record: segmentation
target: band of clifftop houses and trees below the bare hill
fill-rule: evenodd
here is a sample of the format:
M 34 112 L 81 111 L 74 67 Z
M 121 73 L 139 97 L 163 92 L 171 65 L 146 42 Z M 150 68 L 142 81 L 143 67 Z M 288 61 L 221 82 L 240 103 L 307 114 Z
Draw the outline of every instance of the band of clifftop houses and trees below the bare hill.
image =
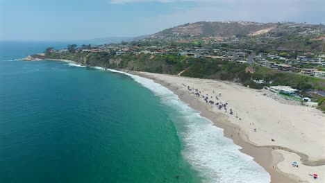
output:
M 52 53 L 64 53 L 67 49 L 53 50 Z M 83 47 L 76 49 L 76 52 L 90 53 L 114 53 L 115 55 L 127 54 L 150 54 L 150 55 L 180 55 L 188 58 L 210 58 L 241 64 L 259 64 L 262 67 L 269 67 L 281 71 L 291 71 L 306 74 L 319 78 L 325 78 L 325 55 L 301 52 L 297 58 L 292 55 L 280 56 L 273 53 L 254 53 L 250 50 L 213 49 L 211 46 L 130 46 L 123 44 L 107 44 L 91 46 L 90 49 Z

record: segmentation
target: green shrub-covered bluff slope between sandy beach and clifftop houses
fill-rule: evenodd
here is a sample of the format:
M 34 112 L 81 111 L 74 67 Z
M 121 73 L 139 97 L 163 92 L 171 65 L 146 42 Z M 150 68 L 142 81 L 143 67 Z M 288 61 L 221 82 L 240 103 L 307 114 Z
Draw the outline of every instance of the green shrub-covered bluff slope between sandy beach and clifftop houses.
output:
M 322 78 L 302 76 L 256 65 L 222 60 L 187 58 L 175 55 L 115 55 L 115 53 L 65 52 L 51 53 L 51 59 L 73 60 L 87 66 L 99 66 L 129 71 L 166 73 L 193 78 L 207 78 L 240 82 L 255 89 L 270 85 L 288 85 L 296 89 L 325 89 Z M 256 82 L 263 80 L 263 82 Z

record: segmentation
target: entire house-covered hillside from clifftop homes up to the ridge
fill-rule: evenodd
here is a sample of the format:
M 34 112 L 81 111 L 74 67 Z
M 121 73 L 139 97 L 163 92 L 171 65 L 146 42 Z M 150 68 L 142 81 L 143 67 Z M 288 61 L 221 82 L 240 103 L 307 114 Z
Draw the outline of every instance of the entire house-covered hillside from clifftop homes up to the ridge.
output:
M 325 77 L 325 26 L 250 21 L 197 22 L 119 44 L 83 45 L 76 52 L 208 58 Z M 56 53 L 68 51 L 51 50 Z

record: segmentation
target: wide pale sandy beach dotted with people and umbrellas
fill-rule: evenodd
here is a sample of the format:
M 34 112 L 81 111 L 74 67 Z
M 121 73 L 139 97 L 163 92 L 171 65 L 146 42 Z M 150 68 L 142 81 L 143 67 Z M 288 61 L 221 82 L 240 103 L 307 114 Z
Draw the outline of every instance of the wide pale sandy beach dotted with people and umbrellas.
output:
M 262 91 L 233 82 L 135 74 L 172 90 L 201 116 L 223 128 L 225 137 L 233 139 L 243 153 L 263 166 L 272 182 L 325 182 L 325 115 L 319 110 L 280 103 Z M 194 94 L 195 89 L 200 96 Z M 226 110 L 206 103 L 202 96 L 208 97 L 207 101 L 227 103 Z M 292 166 L 293 162 L 298 167 Z M 310 176 L 314 173 L 317 180 Z

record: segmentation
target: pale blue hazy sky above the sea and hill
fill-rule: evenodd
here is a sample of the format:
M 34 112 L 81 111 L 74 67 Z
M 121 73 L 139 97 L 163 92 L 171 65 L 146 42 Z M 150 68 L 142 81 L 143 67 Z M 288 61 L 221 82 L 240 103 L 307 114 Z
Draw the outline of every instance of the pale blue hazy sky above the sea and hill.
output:
M 195 21 L 325 24 L 324 0 L 0 0 L 0 40 L 88 40 Z

